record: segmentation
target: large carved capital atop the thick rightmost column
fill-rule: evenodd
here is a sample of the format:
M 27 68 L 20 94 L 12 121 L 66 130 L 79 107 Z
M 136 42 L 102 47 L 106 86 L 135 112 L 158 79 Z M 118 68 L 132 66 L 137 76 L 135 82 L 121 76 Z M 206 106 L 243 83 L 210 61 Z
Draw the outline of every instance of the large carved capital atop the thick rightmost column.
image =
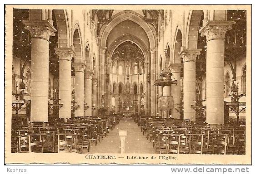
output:
M 232 29 L 234 21 L 207 21 L 199 30 L 201 36 L 206 36 L 206 42 L 212 39 L 224 39 L 228 30 Z

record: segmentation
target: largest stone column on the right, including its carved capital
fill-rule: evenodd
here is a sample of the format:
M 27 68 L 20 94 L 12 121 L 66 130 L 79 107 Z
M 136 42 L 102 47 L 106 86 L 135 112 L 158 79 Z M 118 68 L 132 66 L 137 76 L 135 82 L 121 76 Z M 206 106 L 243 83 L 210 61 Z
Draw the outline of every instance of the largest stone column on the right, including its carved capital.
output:
M 224 49 L 225 34 L 233 21 L 208 21 L 200 29 L 206 36 L 206 122 L 224 123 Z

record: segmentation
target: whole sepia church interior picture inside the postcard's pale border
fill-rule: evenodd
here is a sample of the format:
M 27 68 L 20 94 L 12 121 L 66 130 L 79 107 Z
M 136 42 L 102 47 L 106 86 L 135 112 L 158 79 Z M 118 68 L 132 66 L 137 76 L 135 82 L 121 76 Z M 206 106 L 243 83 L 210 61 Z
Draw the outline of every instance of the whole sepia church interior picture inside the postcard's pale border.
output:
M 13 8 L 11 153 L 245 155 L 246 15 Z

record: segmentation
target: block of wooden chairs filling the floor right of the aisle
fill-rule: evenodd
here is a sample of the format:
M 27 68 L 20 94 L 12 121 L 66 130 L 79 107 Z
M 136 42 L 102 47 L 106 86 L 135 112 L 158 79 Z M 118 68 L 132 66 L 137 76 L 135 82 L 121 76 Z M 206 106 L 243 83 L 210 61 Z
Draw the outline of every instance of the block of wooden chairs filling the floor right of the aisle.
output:
M 245 154 L 245 127 L 196 124 L 179 119 L 141 117 L 141 132 L 156 153 Z

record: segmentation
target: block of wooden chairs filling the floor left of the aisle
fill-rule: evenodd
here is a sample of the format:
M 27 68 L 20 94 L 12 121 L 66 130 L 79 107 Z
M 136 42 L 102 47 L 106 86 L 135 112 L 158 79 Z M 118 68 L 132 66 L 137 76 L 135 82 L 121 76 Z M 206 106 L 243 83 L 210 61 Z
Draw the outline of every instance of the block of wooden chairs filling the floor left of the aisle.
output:
M 119 122 L 119 116 L 61 119 L 53 123 L 33 123 L 17 129 L 18 152 L 88 153 Z

